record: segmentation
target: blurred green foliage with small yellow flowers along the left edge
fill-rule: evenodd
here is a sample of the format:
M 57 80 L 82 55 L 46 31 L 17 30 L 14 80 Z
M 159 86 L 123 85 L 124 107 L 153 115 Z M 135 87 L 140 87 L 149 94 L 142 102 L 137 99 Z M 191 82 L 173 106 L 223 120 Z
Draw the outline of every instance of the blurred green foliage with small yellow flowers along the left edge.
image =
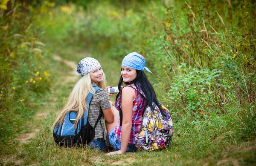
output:
M 28 131 L 27 120 L 35 111 L 32 103 L 51 88 L 45 44 L 33 27 L 33 14 L 23 12 L 19 3 L 0 17 L 0 122 L 1 143 Z

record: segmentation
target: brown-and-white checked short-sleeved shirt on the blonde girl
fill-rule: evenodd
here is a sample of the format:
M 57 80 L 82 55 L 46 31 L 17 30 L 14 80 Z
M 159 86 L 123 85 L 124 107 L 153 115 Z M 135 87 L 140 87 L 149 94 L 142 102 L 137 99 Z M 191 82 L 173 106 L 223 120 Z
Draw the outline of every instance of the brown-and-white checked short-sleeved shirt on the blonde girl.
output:
M 97 86 L 96 83 L 92 81 L 92 86 Z M 98 117 L 99 117 L 99 110 L 102 108 L 102 110 L 110 109 L 111 105 L 109 103 L 109 97 L 105 89 L 99 89 L 99 91 L 93 95 L 93 98 L 90 103 L 89 108 L 89 123 L 92 127 L 94 127 Z M 93 140 L 96 140 L 98 138 L 104 138 L 105 143 L 107 146 L 110 146 L 110 143 L 108 141 L 108 137 L 106 137 L 105 133 L 105 126 L 103 123 L 103 117 L 99 120 L 96 128 L 95 128 L 95 137 Z

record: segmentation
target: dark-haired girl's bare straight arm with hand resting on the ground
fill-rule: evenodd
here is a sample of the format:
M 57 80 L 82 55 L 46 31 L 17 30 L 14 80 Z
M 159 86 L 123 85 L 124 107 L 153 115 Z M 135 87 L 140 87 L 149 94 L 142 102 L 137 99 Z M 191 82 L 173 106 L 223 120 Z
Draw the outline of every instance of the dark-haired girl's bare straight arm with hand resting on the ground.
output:
M 107 155 L 124 154 L 126 152 L 128 141 L 131 135 L 132 126 L 132 108 L 135 97 L 134 89 L 126 86 L 122 89 L 122 130 L 121 130 L 121 150 L 108 153 Z

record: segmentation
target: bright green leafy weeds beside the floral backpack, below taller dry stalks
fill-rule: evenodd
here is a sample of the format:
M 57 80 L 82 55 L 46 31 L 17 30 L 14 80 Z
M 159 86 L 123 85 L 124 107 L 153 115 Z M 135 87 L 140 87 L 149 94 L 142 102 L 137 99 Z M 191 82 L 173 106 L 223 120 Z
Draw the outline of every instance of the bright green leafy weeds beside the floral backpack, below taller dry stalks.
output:
M 236 141 L 255 139 L 254 105 L 239 108 L 232 79 L 225 79 L 220 69 L 189 69 L 184 63 L 179 69 L 182 74 L 174 77 L 166 99 L 177 126 L 183 126 L 192 135 L 195 132 L 195 136 L 203 132 L 210 136 L 209 140 L 219 135 L 225 135 L 222 139 L 227 140 L 230 137 Z M 199 131 L 195 131 L 198 123 Z

